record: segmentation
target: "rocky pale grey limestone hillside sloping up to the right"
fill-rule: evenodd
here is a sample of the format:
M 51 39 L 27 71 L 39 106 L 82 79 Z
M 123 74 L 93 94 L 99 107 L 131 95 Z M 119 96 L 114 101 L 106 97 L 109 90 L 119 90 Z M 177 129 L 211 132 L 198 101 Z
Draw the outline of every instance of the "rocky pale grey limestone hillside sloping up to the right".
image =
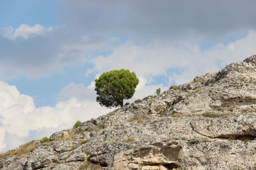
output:
M 31 141 L 0 155 L 0 168 L 256 169 L 255 137 L 253 55 L 56 132 L 50 142 Z

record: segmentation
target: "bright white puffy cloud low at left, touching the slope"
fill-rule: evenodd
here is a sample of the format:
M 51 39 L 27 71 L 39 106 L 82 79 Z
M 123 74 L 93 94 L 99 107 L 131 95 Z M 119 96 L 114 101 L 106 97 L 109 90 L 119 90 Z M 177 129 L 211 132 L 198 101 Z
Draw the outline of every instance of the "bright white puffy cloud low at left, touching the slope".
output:
M 54 107 L 36 108 L 30 96 L 20 94 L 16 87 L 3 81 L 0 81 L 0 103 L 0 152 L 15 148 L 29 139 L 68 129 L 76 120 L 90 120 L 109 111 L 95 101 L 76 97 L 58 102 Z M 12 139 L 18 140 L 12 142 Z

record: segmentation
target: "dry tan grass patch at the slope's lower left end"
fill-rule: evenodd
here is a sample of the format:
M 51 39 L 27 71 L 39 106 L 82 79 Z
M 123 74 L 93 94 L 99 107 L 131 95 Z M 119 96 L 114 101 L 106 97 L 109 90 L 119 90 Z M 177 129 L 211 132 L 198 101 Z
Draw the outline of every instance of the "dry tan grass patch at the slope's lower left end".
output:
M 29 152 L 31 152 L 31 150 L 33 150 L 33 148 L 35 148 L 39 144 L 40 144 L 39 142 L 31 141 L 29 143 L 19 146 L 19 148 L 16 148 L 15 150 L 9 150 L 6 153 L 1 153 L 0 160 L 8 159 L 11 157 L 18 157 L 18 158 L 26 157 L 28 156 Z

